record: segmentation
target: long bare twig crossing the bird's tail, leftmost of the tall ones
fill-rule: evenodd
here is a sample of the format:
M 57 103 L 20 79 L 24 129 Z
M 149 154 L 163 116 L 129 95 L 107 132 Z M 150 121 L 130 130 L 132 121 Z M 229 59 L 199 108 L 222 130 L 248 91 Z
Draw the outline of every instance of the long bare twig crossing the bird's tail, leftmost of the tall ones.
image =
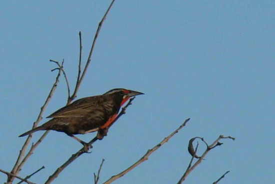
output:
M 50 99 L 51 99 L 51 97 L 52 97 L 52 95 L 53 95 L 53 93 L 54 93 L 54 91 L 55 91 L 55 89 L 57 87 L 57 83 L 59 82 L 60 73 L 61 73 L 61 70 L 58 71 L 58 74 L 57 74 L 57 76 L 55 78 L 55 82 L 53 83 L 53 85 L 52 85 L 52 87 L 51 87 L 51 89 L 49 91 L 49 94 L 48 94 L 48 96 L 47 96 L 44 104 L 40 108 L 40 112 L 38 114 L 38 117 L 37 117 L 36 121 L 33 123 L 32 129 L 36 128 L 37 125 L 38 125 L 38 123 L 41 121 L 42 114 L 44 113 L 44 110 L 46 109 L 47 104 L 49 103 L 49 101 L 50 101 Z M 10 173 L 13 173 L 14 175 L 17 175 L 18 172 L 20 171 L 22 165 L 25 162 L 25 159 L 24 159 L 24 162 L 21 161 L 21 160 L 22 160 L 22 157 L 24 156 L 25 150 L 26 150 L 26 148 L 27 148 L 27 146 L 28 146 L 28 144 L 29 144 L 29 142 L 31 140 L 31 137 L 32 137 L 32 134 L 29 134 L 28 137 L 27 137 L 27 139 L 25 140 L 22 148 L 19 151 L 19 155 L 17 157 L 17 160 L 16 160 L 16 162 L 15 162 L 12 170 L 10 171 Z M 14 177 L 12 175 L 8 176 L 7 177 L 7 183 L 11 183 L 13 181 L 13 179 L 14 179 Z

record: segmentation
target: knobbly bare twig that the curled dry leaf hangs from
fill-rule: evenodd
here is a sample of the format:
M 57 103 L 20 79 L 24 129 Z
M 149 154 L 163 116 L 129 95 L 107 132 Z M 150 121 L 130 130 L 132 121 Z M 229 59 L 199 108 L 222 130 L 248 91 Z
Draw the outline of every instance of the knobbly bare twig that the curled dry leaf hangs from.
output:
M 180 183 L 182 183 L 185 180 L 185 178 L 187 177 L 187 175 L 203 160 L 203 158 L 205 157 L 205 155 L 211 149 L 213 149 L 217 145 L 221 145 L 221 143 L 218 142 L 220 139 L 226 139 L 226 138 L 235 140 L 235 138 L 231 137 L 231 136 L 224 137 L 223 135 L 219 135 L 218 138 L 210 146 L 207 146 L 206 150 L 203 152 L 203 154 L 200 156 L 200 158 L 191 167 L 189 167 L 188 169 L 186 169 L 186 171 L 183 173 L 183 175 L 181 176 L 181 178 L 179 179 L 179 181 L 177 182 L 177 184 L 180 184 Z

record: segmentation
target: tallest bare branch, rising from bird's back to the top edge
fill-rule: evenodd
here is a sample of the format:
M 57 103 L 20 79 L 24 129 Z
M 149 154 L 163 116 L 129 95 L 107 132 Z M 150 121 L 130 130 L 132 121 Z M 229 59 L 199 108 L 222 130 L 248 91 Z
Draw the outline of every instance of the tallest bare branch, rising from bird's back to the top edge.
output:
M 89 63 L 90 63 L 90 60 L 91 60 L 92 51 L 93 51 L 93 48 L 94 48 L 94 45 L 95 45 L 97 36 L 98 36 L 98 34 L 99 34 L 99 32 L 100 32 L 101 26 L 102 26 L 104 20 L 106 19 L 106 16 L 107 16 L 107 14 L 109 13 L 109 10 L 111 9 L 112 4 L 114 3 L 114 1 L 115 1 L 115 0 L 112 0 L 112 2 L 110 3 L 110 5 L 109 5 L 107 11 L 105 12 L 103 18 L 101 19 L 101 21 L 100 21 L 99 24 L 98 24 L 98 27 L 97 27 L 96 33 L 95 33 L 94 38 L 93 38 L 93 41 L 92 41 L 91 49 L 90 49 L 89 56 L 88 56 L 86 65 L 85 65 L 85 67 L 84 67 L 83 73 L 82 73 L 82 75 L 81 75 L 81 77 L 80 77 L 78 83 L 76 84 L 75 89 L 74 89 L 74 92 L 73 92 L 73 94 L 71 95 L 70 99 L 68 100 L 68 103 L 71 102 L 71 101 L 76 97 L 76 93 L 77 93 L 77 91 L 78 91 L 78 89 L 79 89 L 79 86 L 80 86 L 80 84 L 81 84 L 81 82 L 82 82 L 82 80 L 83 80 L 83 78 L 84 78 L 84 76 L 85 76 L 85 73 L 86 73 L 87 69 L 88 69 L 88 66 L 89 66 Z

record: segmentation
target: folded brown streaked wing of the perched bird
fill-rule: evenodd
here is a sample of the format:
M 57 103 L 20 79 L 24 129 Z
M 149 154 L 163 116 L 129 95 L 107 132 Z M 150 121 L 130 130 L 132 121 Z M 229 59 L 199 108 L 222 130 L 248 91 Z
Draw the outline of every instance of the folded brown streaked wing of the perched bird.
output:
M 53 112 L 47 118 L 54 117 L 84 117 L 91 113 L 92 107 L 96 106 L 96 100 L 93 97 L 81 98 L 74 101 L 70 105 L 62 107 L 61 109 Z

